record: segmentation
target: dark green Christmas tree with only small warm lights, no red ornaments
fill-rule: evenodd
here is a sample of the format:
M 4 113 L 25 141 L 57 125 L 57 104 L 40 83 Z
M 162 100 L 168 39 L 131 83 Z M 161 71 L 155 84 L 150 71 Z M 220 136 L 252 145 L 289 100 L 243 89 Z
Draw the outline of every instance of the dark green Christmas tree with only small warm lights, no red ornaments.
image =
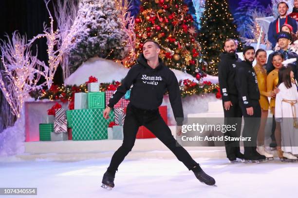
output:
M 202 46 L 204 60 L 207 61 L 207 73 L 217 75 L 219 55 L 223 52 L 223 42 L 227 38 L 238 39 L 237 27 L 229 11 L 227 0 L 206 0 L 198 36 Z M 238 49 L 242 49 L 239 43 Z

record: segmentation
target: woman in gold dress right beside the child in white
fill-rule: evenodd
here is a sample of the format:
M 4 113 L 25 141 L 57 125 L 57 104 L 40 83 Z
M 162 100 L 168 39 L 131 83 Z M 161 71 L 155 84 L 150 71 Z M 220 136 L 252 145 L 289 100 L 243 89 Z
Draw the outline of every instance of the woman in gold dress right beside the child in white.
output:
M 272 64 L 274 69 L 268 74 L 267 76 L 267 92 L 274 92 L 275 95 L 277 94 L 277 84 L 279 82 L 279 69 L 282 67 L 283 62 L 283 54 L 280 52 L 274 52 L 272 57 Z M 270 110 L 273 115 L 275 115 L 275 95 L 270 99 Z M 274 136 L 277 144 L 277 151 L 279 158 L 282 158 L 282 151 L 281 151 L 281 134 L 280 134 L 280 123 L 276 122 L 276 128 L 274 131 Z

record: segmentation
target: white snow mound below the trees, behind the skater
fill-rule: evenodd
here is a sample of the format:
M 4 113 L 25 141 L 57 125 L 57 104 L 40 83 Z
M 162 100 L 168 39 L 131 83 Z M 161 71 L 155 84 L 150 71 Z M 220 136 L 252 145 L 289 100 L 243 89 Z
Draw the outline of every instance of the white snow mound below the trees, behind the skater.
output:
M 184 73 L 177 69 L 171 69 L 176 75 L 178 81 L 189 79 L 198 82 L 197 79 L 187 73 Z M 94 76 L 98 79 L 98 82 L 112 82 L 121 81 L 127 75 L 129 68 L 116 63 L 111 60 L 103 58 L 91 58 L 87 62 L 83 63 L 72 75 L 70 75 L 65 81 L 66 85 L 80 85 L 88 81 L 89 76 Z M 211 81 L 212 83 L 218 83 L 217 76 L 209 76 L 203 78 L 203 81 Z

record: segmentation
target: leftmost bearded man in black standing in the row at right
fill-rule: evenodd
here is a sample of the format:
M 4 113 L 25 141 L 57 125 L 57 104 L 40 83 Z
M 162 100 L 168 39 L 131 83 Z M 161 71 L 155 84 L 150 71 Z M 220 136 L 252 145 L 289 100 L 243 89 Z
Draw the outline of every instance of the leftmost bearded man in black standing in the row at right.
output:
M 224 50 L 218 64 L 218 80 L 223 100 L 224 124 L 237 125 L 236 131 L 225 132 L 225 136 L 239 137 L 241 132 L 242 112 L 239 106 L 238 91 L 235 83 L 236 62 L 241 61 L 236 54 L 236 43 L 233 39 L 224 42 Z M 239 141 L 224 141 L 226 157 L 230 162 L 243 159 Z

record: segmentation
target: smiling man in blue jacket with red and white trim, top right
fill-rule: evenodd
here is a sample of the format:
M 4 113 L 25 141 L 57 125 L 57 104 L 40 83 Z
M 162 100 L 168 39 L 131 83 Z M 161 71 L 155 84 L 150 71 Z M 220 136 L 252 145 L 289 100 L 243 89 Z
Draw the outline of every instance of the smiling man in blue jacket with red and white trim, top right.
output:
M 284 1 L 280 1 L 278 6 L 278 12 L 279 12 L 279 16 L 276 20 L 272 21 L 269 24 L 269 28 L 268 28 L 268 40 L 271 43 L 272 48 L 275 47 L 278 39 L 277 39 L 277 35 L 281 30 L 281 26 L 283 24 L 289 24 L 293 27 L 293 32 L 296 33 L 297 31 L 297 22 L 294 18 L 291 18 L 291 16 L 287 15 L 289 6 L 286 2 Z

